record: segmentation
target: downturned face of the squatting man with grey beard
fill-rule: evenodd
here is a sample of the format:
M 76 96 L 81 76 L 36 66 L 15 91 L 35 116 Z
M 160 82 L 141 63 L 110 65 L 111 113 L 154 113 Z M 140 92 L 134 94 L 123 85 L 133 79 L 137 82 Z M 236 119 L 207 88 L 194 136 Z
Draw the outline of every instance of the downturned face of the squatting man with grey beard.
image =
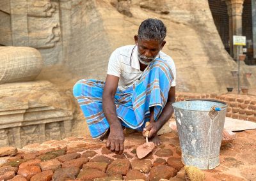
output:
M 134 36 L 136 45 L 138 46 L 138 59 L 141 64 L 148 65 L 159 54 L 164 47 L 166 41 L 157 40 L 141 40 L 138 36 Z

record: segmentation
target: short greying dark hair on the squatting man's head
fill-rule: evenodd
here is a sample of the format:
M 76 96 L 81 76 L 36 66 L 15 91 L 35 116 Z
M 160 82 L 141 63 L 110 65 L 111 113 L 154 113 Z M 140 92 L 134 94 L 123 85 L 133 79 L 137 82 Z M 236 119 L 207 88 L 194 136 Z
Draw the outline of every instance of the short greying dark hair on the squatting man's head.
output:
M 166 36 L 166 27 L 161 20 L 148 18 L 141 23 L 138 36 L 141 40 L 163 41 Z

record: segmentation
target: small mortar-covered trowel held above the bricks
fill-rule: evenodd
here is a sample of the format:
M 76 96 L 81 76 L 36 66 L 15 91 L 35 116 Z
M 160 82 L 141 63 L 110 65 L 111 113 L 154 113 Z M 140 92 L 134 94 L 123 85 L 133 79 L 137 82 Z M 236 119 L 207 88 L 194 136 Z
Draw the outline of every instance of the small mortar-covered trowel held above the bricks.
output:
M 146 122 L 146 127 L 149 125 L 149 122 Z M 146 143 L 144 143 L 143 145 L 140 145 L 139 147 L 137 147 L 136 149 L 136 154 L 138 156 L 139 159 L 147 156 L 150 152 L 152 152 L 152 150 L 155 147 L 155 144 L 153 142 L 148 142 L 148 134 L 149 131 L 145 132 L 146 134 Z

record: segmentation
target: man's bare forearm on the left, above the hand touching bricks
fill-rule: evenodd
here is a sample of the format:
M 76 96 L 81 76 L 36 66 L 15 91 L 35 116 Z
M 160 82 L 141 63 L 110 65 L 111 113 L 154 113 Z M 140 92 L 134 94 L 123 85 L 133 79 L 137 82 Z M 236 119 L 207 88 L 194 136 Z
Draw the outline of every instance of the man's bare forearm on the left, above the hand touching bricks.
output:
M 102 98 L 102 108 L 110 127 L 122 127 L 116 115 L 115 103 L 110 96 L 108 98 Z

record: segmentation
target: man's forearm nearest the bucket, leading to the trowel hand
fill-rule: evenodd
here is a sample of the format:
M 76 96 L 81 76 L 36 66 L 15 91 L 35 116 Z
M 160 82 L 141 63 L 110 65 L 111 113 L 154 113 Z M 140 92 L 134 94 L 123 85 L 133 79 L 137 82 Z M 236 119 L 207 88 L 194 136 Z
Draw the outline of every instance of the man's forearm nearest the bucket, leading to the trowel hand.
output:
M 161 115 L 159 116 L 157 122 L 157 129 L 161 129 L 161 127 L 171 118 L 173 114 L 173 102 L 167 102 L 163 108 Z

